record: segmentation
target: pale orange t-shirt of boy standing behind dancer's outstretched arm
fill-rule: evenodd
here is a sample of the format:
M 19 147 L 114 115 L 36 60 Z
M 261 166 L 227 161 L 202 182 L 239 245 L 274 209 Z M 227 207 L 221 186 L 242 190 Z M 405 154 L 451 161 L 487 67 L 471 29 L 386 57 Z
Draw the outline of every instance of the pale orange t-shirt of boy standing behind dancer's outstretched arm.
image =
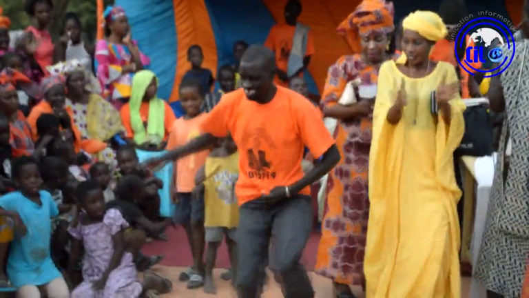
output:
M 200 136 L 200 124 L 207 118 L 207 114 L 203 113 L 192 119 L 184 119 L 180 117 L 174 121 L 171 135 L 167 140 L 167 150 L 172 150 L 178 146 L 185 145 L 191 139 Z M 198 169 L 206 163 L 209 150 L 196 152 L 192 155 L 187 155 L 178 159 L 175 162 L 176 166 L 176 190 L 178 192 L 191 192 L 195 187 L 195 176 Z

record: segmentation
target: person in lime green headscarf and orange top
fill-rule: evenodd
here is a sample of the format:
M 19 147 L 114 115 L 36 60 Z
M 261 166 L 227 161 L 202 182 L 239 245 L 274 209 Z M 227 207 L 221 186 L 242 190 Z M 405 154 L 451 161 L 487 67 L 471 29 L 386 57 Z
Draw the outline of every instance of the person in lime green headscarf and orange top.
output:
M 165 148 L 165 141 L 176 119 L 173 110 L 156 96 L 158 78 L 150 70 L 141 70 L 132 79 L 130 101 L 121 108 L 125 137 L 145 150 Z

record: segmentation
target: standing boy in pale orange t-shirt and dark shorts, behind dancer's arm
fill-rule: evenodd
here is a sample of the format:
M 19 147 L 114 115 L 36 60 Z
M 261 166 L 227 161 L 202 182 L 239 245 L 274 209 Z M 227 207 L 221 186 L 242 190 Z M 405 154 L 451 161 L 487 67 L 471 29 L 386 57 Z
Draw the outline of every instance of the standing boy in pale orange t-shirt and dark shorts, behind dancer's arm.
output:
M 184 80 L 179 88 L 180 103 L 185 111 L 185 116 L 173 124 L 167 150 L 199 137 L 200 125 L 205 121 L 207 114 L 200 112 L 204 101 L 204 92 L 200 82 Z M 191 192 L 195 187 L 195 176 L 206 162 L 209 150 L 201 150 L 176 161 L 174 201 L 176 202 L 174 221 L 185 228 L 189 247 L 193 253 L 194 266 L 180 275 L 180 281 L 187 281 L 187 288 L 199 288 L 204 285 L 203 254 L 205 246 L 204 230 L 204 197 L 193 199 Z

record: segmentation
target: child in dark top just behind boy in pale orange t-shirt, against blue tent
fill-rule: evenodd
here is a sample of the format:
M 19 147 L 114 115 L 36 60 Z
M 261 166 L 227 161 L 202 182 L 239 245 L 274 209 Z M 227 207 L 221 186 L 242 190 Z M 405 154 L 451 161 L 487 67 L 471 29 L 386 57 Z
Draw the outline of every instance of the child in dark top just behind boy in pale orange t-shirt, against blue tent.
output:
M 182 81 L 198 81 L 200 87 L 202 88 L 203 94 L 209 93 L 211 87 L 215 82 L 211 70 L 207 68 L 202 68 L 202 63 L 204 61 L 204 54 L 202 48 L 198 45 L 190 46 L 187 50 L 187 61 L 191 63 L 191 69 L 187 70 L 182 78 Z

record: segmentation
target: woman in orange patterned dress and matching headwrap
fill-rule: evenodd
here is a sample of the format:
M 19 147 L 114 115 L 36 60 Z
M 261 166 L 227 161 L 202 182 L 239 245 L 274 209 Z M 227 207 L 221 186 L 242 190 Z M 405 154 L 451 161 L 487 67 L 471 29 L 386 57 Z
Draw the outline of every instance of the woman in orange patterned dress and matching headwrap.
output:
M 333 279 L 339 298 L 354 297 L 349 286 L 364 285 L 371 117 L 378 68 L 391 58 L 393 12 L 391 2 L 364 0 L 340 24 L 338 32 L 358 54 L 340 57 L 329 68 L 322 97 L 325 117 L 338 120 L 335 138 L 342 159 L 329 174 L 315 270 Z

